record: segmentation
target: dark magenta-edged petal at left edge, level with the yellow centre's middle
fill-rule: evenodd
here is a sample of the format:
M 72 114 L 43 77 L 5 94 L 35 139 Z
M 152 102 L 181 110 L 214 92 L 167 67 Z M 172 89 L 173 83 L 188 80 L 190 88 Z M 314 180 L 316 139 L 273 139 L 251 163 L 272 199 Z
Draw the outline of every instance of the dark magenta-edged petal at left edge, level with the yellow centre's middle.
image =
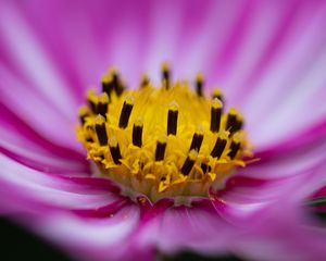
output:
M 0 109 L 2 153 L 39 171 L 88 172 L 85 156 L 45 139 L 5 107 L 1 107 L 1 102 Z

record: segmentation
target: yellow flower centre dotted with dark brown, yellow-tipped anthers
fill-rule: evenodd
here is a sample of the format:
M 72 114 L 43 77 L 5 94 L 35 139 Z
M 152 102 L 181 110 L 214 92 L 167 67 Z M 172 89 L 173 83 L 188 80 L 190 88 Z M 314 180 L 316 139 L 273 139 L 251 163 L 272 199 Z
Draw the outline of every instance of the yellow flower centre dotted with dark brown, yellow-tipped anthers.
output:
M 243 117 L 224 111 L 218 89 L 203 94 L 198 74 L 195 91 L 172 82 L 166 64 L 162 83 L 145 76 L 138 89 L 126 89 L 118 73 L 102 78 L 102 92 L 87 94 L 77 137 L 96 171 L 117 182 L 123 191 L 161 198 L 206 197 L 223 187 L 236 166 L 251 156 Z

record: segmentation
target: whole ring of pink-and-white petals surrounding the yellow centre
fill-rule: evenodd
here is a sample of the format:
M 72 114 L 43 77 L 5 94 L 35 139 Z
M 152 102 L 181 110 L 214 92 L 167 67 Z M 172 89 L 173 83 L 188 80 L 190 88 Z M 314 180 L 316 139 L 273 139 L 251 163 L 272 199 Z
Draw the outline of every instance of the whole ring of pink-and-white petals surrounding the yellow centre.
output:
M 192 249 L 321 260 L 324 231 L 300 206 L 325 185 L 325 8 L 324 1 L 3 1 L 1 214 L 78 259 Z M 156 75 L 163 60 L 178 78 L 200 70 L 206 86 L 221 86 L 226 103 L 243 113 L 261 159 L 190 207 L 122 195 L 116 183 L 92 175 L 74 133 L 86 88 L 109 64 L 136 86 L 142 71 Z

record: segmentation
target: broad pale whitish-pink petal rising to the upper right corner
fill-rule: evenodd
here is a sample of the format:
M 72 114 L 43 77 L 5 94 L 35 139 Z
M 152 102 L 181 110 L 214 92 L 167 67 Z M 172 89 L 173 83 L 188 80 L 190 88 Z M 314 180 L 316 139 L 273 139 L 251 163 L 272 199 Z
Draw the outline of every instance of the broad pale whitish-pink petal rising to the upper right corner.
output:
M 269 67 L 258 74 L 258 82 L 251 83 L 253 91 L 243 88 L 246 94 L 239 92 L 256 145 L 266 146 L 289 137 L 325 115 L 326 108 L 317 98 L 325 97 L 326 38 L 319 34 L 325 13 L 322 2 L 300 5 L 288 40 L 284 45 L 278 42 L 274 61 L 264 64 Z

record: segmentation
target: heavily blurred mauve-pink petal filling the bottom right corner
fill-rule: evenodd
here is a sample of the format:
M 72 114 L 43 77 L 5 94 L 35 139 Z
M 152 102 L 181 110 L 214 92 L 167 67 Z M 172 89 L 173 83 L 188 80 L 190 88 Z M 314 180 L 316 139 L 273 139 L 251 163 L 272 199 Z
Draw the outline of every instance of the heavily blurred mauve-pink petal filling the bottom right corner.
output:
M 287 199 L 263 212 L 249 234 L 236 238 L 233 251 L 249 260 L 323 260 L 325 229 L 309 224 Z

